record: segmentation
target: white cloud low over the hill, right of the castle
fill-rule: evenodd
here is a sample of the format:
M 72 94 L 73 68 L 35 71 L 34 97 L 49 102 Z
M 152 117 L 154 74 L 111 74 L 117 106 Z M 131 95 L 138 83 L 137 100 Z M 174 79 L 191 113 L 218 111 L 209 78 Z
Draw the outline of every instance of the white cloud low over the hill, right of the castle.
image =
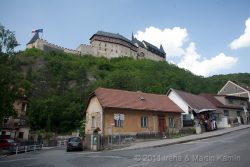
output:
M 238 62 L 238 58 L 220 53 L 210 59 L 202 58 L 196 52 L 195 43 L 191 42 L 186 48 L 184 56 L 177 65 L 197 75 L 209 76 L 219 70 L 229 69 Z

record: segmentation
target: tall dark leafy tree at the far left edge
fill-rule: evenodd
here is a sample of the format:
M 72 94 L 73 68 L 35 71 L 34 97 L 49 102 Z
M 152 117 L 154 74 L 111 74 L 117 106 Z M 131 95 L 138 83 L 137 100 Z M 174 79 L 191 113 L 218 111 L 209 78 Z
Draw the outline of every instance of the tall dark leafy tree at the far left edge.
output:
M 12 53 L 18 45 L 14 32 L 0 24 L 0 122 L 14 114 L 13 103 L 16 96 L 16 78 Z

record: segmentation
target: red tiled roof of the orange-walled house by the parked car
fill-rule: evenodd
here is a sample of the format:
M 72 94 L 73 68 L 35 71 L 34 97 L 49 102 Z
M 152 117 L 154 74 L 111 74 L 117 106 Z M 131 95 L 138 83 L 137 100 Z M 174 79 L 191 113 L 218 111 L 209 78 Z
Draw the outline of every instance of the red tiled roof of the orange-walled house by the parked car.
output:
M 166 95 L 131 92 L 107 88 L 98 88 L 94 93 L 101 103 L 102 107 L 106 108 L 176 113 L 183 112 Z

